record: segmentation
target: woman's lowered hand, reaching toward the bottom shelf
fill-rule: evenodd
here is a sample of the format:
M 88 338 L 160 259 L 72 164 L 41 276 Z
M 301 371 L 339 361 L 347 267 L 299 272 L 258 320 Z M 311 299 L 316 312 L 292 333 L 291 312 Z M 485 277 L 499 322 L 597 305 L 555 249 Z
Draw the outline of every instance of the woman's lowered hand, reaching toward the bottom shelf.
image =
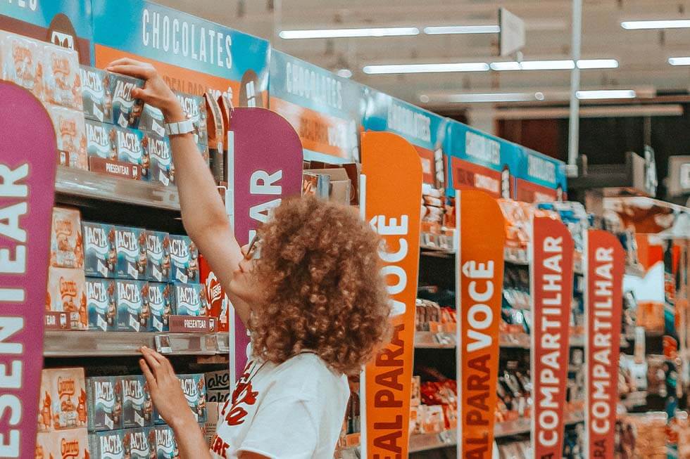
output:
M 151 401 L 161 418 L 173 429 L 186 422 L 196 422 L 170 361 L 146 346 L 139 350 L 144 356 L 139 359 L 139 366 L 149 384 Z

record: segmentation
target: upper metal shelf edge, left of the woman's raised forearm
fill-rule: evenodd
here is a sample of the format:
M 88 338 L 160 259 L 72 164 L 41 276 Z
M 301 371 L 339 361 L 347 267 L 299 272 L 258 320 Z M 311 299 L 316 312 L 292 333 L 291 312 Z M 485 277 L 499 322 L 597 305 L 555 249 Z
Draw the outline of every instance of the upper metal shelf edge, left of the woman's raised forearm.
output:
M 138 180 L 118 179 L 106 174 L 58 166 L 56 193 L 125 204 L 180 210 L 175 186 L 162 186 Z

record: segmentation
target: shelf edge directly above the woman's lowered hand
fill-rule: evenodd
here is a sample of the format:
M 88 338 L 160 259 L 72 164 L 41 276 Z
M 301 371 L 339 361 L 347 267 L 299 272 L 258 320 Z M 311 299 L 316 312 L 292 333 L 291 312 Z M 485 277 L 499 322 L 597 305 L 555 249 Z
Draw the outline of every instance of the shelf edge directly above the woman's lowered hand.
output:
M 226 335 L 227 336 L 227 335 Z M 227 341 L 226 341 L 227 342 Z M 46 330 L 43 355 L 46 357 L 110 357 L 139 355 L 139 348 L 150 347 L 177 356 L 225 354 L 221 334 L 81 332 Z

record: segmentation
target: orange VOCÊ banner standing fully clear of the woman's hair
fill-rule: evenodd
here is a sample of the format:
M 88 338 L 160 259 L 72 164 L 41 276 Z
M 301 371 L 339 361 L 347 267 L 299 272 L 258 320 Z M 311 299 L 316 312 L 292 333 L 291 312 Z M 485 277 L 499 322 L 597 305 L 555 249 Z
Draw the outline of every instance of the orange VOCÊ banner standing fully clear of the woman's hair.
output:
M 458 191 L 458 458 L 491 459 L 506 221 L 483 191 Z

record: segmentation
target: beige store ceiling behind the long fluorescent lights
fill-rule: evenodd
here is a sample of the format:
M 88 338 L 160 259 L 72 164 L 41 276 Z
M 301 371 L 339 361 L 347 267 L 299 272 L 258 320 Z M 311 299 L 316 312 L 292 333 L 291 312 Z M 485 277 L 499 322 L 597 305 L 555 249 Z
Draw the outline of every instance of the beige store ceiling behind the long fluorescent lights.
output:
M 424 27 L 496 25 L 508 8 L 527 25 L 525 60 L 570 58 L 570 0 L 158 0 L 161 4 L 270 39 L 276 49 L 330 70 L 346 68 L 353 79 L 424 105 L 422 95 L 544 93 L 545 103 L 565 100 L 567 70 L 449 72 L 366 75 L 365 65 L 399 63 L 492 63 L 498 34 L 427 35 Z M 615 59 L 619 67 L 583 70 L 585 89 L 634 89 L 640 96 L 685 92 L 690 66 L 667 63 L 690 56 L 690 28 L 624 30 L 622 20 L 689 19 L 690 0 L 584 0 L 583 59 Z M 351 27 L 418 27 L 406 37 L 282 39 L 282 30 Z M 420 99 L 421 97 L 421 99 Z M 445 104 L 445 103 L 444 103 Z M 438 108 L 438 105 L 436 105 Z

